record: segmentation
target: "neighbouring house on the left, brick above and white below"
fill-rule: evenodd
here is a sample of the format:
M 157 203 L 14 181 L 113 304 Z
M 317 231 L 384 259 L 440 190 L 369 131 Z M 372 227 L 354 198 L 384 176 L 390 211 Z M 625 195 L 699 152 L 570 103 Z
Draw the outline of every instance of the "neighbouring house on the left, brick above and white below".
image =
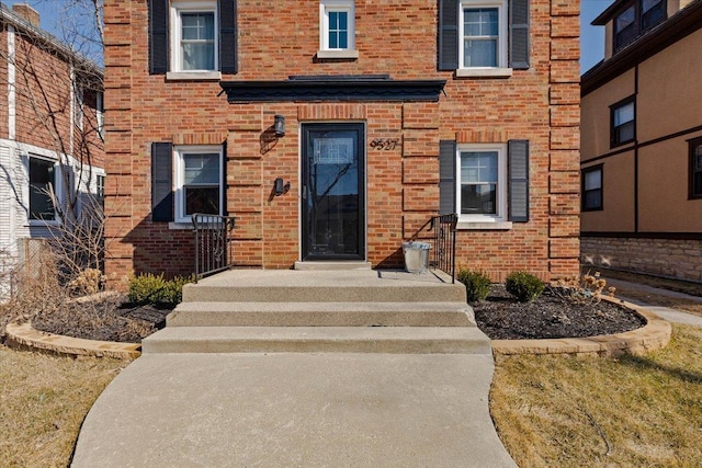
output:
M 0 4 L 0 284 L 61 209 L 104 187 L 102 69 L 39 27 L 26 4 Z M 49 191 L 60 206 L 55 206 Z M 64 212 L 66 213 L 66 212 Z M 3 294 L 5 290 L 2 290 Z

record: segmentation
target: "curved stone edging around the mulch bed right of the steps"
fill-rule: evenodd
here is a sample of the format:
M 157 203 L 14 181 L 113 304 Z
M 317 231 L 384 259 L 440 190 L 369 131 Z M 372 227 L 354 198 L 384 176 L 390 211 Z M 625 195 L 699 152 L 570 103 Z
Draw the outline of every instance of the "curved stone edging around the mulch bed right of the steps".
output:
M 642 355 L 660 350 L 670 341 L 670 323 L 644 307 L 619 299 L 603 300 L 632 309 L 646 320 L 646 324 L 624 333 L 587 338 L 557 338 L 548 340 L 492 340 L 492 353 L 510 354 L 576 354 L 615 355 L 630 353 Z

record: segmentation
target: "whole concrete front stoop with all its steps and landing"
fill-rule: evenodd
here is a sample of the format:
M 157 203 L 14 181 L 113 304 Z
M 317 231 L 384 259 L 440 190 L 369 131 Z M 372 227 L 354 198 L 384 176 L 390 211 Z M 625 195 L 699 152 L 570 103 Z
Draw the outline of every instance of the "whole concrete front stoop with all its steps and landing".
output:
M 148 353 L 491 354 L 441 273 L 229 271 L 186 285 Z

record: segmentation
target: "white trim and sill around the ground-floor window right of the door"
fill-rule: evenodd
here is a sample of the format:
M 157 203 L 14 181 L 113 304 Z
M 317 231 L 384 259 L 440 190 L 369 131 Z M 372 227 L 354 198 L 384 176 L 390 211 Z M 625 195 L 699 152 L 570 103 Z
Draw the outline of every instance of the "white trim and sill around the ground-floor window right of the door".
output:
M 461 213 L 461 153 L 497 151 L 497 214 L 466 215 Z M 507 215 L 507 144 L 461 144 L 456 146 L 456 213 L 458 229 L 510 229 Z

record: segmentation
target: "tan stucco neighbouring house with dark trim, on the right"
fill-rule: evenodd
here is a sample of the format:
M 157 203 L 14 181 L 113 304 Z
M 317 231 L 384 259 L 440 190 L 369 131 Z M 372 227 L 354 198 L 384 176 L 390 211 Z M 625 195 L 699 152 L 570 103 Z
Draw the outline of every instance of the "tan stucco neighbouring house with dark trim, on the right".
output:
M 582 76 L 587 263 L 702 282 L 702 1 L 615 1 Z

